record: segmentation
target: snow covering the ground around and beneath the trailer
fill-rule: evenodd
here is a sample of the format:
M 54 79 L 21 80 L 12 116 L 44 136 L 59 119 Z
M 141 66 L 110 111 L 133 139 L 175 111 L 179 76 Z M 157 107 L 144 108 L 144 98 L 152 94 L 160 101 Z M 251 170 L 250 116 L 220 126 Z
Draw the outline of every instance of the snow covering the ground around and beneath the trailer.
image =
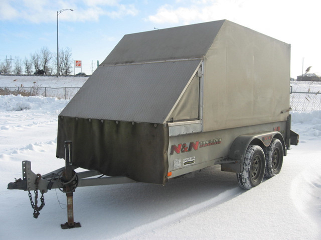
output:
M 33 79 L 17 81 L 27 85 Z M 42 85 L 60 85 L 50 79 Z M 66 79 L 64 86 L 81 86 L 78 78 Z M 0 77 L 0 85 L 12 81 Z M 216 165 L 165 186 L 78 187 L 74 214 L 80 228 L 61 229 L 67 221 L 66 196 L 52 189 L 35 219 L 28 192 L 8 190 L 7 184 L 22 177 L 23 160 L 32 162 L 35 173 L 64 166 L 55 155 L 57 116 L 67 103 L 54 97 L 0 96 L 0 239 L 321 238 L 321 110 L 291 112 L 299 145 L 287 151 L 279 174 L 250 190 L 238 186 L 235 173 Z

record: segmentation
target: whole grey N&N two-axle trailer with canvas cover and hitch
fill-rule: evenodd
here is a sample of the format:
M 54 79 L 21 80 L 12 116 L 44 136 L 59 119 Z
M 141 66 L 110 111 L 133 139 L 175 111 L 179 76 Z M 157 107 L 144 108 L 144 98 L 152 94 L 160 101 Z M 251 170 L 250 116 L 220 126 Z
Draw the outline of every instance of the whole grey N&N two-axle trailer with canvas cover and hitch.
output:
M 290 45 L 228 20 L 124 35 L 59 114 L 65 166 L 41 175 L 23 161 L 8 188 L 29 191 L 35 217 L 48 189 L 66 192 L 62 228 L 80 226 L 79 186 L 166 184 L 220 164 L 250 189 L 298 144 L 289 81 Z

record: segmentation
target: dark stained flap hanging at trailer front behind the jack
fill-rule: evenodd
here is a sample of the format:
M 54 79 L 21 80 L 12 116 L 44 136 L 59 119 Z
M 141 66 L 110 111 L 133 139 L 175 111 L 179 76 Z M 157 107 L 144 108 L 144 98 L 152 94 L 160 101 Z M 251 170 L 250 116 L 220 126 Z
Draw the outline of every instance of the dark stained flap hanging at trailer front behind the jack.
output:
M 60 116 L 57 157 L 64 157 L 65 140 L 73 142 L 75 166 L 141 182 L 167 181 L 168 125 Z

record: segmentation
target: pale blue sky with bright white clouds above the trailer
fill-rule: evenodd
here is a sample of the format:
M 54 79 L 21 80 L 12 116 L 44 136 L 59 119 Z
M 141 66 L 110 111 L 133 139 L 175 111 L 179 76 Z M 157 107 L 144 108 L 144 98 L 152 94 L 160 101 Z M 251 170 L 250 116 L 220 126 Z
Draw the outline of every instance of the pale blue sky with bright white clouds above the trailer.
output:
M 291 44 L 291 72 L 321 74 L 318 0 L 0 0 L 0 62 L 71 48 L 91 74 L 129 33 L 228 19 Z

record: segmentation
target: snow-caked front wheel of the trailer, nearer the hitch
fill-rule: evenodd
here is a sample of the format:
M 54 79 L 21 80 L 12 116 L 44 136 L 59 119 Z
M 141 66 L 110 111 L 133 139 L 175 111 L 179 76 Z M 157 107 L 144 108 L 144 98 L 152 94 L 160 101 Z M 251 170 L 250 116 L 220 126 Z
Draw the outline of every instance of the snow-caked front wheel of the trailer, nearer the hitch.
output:
M 244 161 L 243 170 L 236 173 L 239 185 L 244 189 L 251 189 L 260 184 L 265 172 L 265 155 L 263 149 L 258 145 L 249 145 Z

